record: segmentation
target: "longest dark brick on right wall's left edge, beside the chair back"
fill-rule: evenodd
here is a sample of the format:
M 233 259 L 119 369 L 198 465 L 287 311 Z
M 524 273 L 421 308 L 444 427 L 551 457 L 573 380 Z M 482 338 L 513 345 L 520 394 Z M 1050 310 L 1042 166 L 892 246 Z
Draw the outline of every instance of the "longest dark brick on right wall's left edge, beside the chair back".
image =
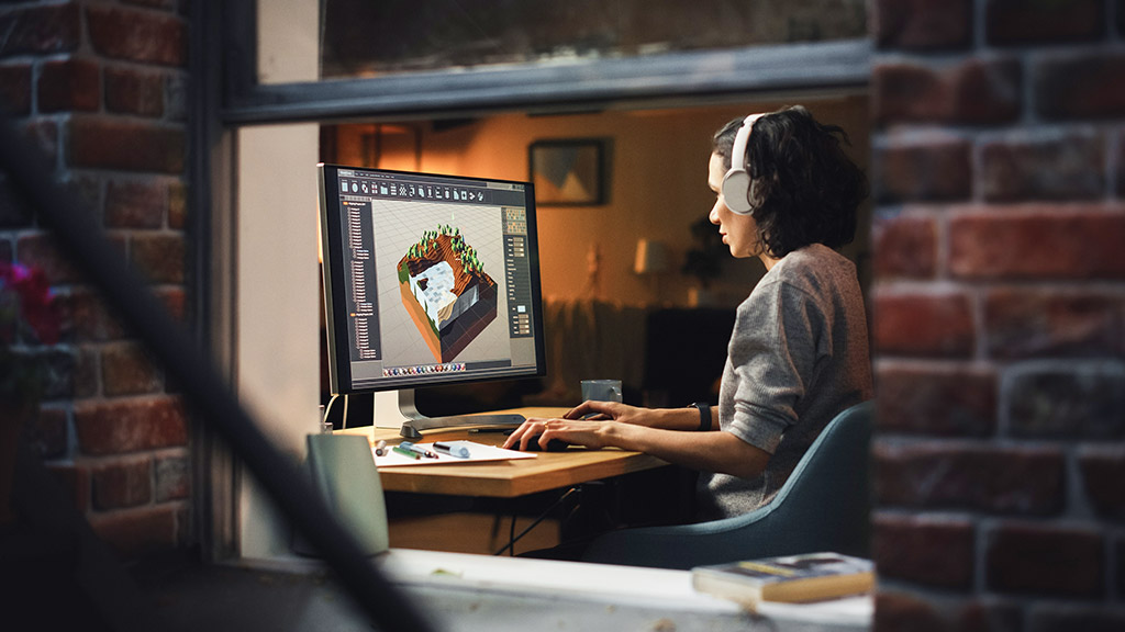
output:
M 879 506 L 1055 515 L 1065 459 L 1050 448 L 928 441 L 874 448 Z

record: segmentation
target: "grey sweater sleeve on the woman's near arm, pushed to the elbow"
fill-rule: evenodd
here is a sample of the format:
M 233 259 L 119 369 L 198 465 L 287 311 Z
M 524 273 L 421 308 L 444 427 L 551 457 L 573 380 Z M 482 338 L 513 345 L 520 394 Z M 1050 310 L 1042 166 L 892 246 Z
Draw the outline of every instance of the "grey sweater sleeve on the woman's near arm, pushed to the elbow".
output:
M 781 280 L 756 288 L 739 306 L 728 349 L 735 414 L 724 430 L 774 453 L 812 382 L 821 320 L 816 301 Z

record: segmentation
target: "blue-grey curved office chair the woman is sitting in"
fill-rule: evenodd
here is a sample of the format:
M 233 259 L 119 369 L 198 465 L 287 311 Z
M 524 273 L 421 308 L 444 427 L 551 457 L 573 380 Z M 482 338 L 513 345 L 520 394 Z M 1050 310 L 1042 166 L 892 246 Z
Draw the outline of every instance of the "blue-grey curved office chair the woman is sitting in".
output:
M 868 449 L 874 401 L 825 426 L 776 496 L 739 516 L 698 524 L 613 531 L 583 561 L 690 569 L 727 561 L 834 551 L 868 554 Z

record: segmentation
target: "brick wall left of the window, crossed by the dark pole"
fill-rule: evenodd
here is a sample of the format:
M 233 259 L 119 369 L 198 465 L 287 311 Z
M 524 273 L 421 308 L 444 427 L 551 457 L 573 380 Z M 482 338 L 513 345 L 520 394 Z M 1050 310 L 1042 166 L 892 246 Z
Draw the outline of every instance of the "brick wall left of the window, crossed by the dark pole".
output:
M 184 314 L 188 22 L 178 0 L 0 3 L 0 107 Z M 186 3 L 184 3 L 186 4 Z M 160 367 L 6 191 L 0 260 L 42 267 L 66 313 L 34 427 L 48 467 L 126 557 L 189 534 L 188 424 Z

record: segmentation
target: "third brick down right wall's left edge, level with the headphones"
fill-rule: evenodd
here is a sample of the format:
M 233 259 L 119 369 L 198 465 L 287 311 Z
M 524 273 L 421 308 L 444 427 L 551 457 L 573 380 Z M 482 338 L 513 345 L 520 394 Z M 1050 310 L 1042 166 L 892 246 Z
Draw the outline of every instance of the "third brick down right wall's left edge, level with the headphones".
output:
M 875 190 L 880 201 L 969 199 L 970 150 L 968 142 L 944 135 L 875 145 Z

